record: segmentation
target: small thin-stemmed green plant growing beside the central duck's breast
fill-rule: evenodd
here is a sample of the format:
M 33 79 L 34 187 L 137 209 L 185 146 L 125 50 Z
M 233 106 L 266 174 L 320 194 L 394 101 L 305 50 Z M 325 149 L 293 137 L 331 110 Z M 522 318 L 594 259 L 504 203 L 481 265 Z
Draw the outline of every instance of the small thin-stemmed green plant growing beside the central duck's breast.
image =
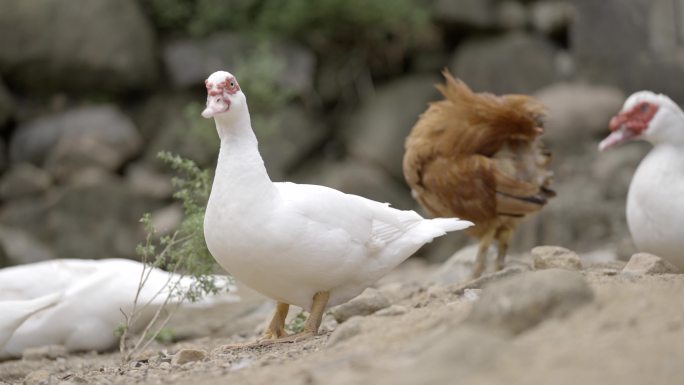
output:
M 207 170 L 202 170 L 193 161 L 160 152 L 159 158 L 167 163 L 178 176 L 172 179 L 176 188 L 174 197 L 183 205 L 184 217 L 179 228 L 170 235 L 157 239 L 149 213 L 143 215 L 146 237 L 145 242 L 138 245 L 136 252 L 143 262 L 138 289 L 133 300 L 130 313 L 121 310 L 124 323 L 118 325 L 114 334 L 119 336 L 119 350 L 123 362 L 129 361 L 137 352 L 144 350 L 154 340 L 168 340 L 172 338 L 167 322 L 183 301 L 195 302 L 205 295 L 216 294 L 222 287 L 217 283 L 217 277 L 210 275 L 215 268 L 215 262 L 204 242 L 204 209 L 211 189 L 211 176 Z M 142 292 L 151 272 L 155 268 L 165 269 L 174 274 L 160 288 L 155 296 L 165 293 L 166 297 L 151 320 L 144 325 L 142 333 L 129 341 L 133 334 L 133 327 L 150 302 L 140 303 Z M 181 280 L 192 277 L 192 283 L 181 285 Z

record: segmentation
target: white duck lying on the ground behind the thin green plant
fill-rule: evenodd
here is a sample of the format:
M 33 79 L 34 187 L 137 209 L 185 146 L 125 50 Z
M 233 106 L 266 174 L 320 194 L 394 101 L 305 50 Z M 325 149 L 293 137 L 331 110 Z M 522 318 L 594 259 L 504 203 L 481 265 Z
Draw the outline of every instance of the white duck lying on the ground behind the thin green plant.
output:
M 69 351 L 111 349 L 118 340 L 114 329 L 124 322 L 120 309 L 130 314 L 142 268 L 140 262 L 127 259 L 58 259 L 0 269 L 0 324 L 13 317 L 2 311 L 3 306 L 32 298 L 57 301 L 28 317 L 0 344 L 0 359 L 18 357 L 27 348 L 44 345 L 64 345 Z M 134 327 L 152 319 L 178 278 L 152 270 L 138 299 L 139 307 L 148 302 L 150 306 L 140 313 Z M 180 285 L 187 287 L 192 282 L 184 277 Z M 50 297 L 54 293 L 57 297 Z M 226 293 L 221 299 L 235 301 L 237 297 Z M 211 303 L 215 298 L 206 300 Z

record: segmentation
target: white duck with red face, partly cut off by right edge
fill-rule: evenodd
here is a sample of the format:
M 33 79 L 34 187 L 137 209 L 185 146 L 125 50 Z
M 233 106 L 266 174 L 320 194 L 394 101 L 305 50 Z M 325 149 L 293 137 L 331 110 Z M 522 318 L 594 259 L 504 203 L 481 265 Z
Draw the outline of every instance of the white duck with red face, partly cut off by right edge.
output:
M 610 130 L 600 150 L 636 139 L 653 145 L 627 195 L 634 244 L 684 271 L 684 112 L 665 95 L 640 91 L 611 119 Z

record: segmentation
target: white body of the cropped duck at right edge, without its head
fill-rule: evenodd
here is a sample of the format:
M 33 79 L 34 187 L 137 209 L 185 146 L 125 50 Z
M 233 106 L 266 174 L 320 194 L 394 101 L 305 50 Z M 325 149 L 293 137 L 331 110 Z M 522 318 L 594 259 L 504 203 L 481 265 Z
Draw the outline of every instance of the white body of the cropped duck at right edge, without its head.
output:
M 627 223 L 640 251 L 684 269 L 684 149 L 660 145 L 644 158 L 629 188 Z

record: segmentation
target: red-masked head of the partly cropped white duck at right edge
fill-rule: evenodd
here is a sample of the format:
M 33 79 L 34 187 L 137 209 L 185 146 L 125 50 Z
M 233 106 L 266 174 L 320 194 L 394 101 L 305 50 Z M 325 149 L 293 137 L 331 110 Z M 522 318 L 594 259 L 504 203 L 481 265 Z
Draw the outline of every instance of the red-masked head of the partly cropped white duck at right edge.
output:
M 610 120 L 611 134 L 599 150 L 631 140 L 684 144 L 684 113 L 672 99 L 651 91 L 632 94 L 620 112 Z

